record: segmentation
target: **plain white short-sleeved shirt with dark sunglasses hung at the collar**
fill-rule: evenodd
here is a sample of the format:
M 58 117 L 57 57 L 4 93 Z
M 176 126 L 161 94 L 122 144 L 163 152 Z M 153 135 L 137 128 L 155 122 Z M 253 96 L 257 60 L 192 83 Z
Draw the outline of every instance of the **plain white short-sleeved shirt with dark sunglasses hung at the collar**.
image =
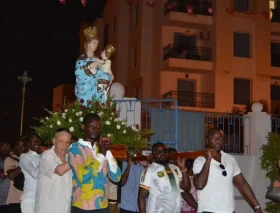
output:
M 211 160 L 207 184 L 203 190 L 197 191 L 198 212 L 234 212 L 233 177 L 240 174 L 241 171 L 232 155 L 224 152 L 221 152 L 221 154 L 221 163 L 214 159 Z M 204 157 L 198 157 L 194 161 L 194 174 L 200 173 L 205 162 Z M 220 168 L 220 164 L 225 167 L 227 176 L 223 176 L 223 169 Z

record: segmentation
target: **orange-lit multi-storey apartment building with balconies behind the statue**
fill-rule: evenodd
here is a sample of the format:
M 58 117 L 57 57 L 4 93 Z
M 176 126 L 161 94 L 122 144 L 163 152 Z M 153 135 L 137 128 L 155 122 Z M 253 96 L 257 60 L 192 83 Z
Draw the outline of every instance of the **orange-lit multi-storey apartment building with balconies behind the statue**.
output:
M 117 48 L 127 96 L 226 112 L 280 100 L 278 10 L 277 0 L 111 0 L 94 25 L 100 50 Z

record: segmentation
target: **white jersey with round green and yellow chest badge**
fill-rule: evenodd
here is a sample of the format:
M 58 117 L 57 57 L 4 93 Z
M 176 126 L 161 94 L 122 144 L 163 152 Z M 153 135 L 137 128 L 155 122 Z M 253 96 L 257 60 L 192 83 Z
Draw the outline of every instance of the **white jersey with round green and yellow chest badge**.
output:
M 181 211 L 182 172 L 177 166 L 168 165 L 174 175 L 175 184 L 172 184 L 164 166 L 160 164 L 152 163 L 142 172 L 139 186 L 149 190 L 147 213 L 179 213 Z

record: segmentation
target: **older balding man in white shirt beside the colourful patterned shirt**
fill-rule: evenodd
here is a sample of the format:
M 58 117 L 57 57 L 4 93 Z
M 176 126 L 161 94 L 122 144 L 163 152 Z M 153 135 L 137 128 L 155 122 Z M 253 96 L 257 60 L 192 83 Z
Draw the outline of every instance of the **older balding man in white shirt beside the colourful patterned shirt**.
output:
M 68 129 L 60 128 L 53 138 L 54 146 L 43 152 L 36 189 L 36 213 L 70 213 L 72 172 L 67 163 L 71 142 Z

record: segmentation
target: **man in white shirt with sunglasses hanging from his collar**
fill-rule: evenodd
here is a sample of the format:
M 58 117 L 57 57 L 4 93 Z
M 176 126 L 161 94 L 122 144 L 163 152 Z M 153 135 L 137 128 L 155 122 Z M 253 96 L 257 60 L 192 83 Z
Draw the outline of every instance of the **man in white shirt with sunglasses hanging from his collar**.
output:
M 233 213 L 235 186 L 255 213 L 262 213 L 261 207 L 248 182 L 232 155 L 222 151 L 224 134 L 213 128 L 207 133 L 206 144 L 214 149 L 212 156 L 207 150 L 205 157 L 198 157 L 193 166 L 194 185 L 198 189 L 199 213 Z

